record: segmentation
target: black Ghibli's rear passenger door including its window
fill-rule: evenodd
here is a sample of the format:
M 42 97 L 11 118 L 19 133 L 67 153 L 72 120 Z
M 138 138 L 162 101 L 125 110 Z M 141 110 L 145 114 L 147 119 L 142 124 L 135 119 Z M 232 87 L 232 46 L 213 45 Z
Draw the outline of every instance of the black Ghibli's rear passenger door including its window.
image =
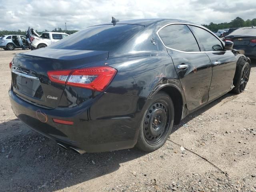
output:
M 212 79 L 212 64 L 200 52 L 196 38 L 185 24 L 170 24 L 158 30 L 182 84 L 188 110 L 206 103 Z

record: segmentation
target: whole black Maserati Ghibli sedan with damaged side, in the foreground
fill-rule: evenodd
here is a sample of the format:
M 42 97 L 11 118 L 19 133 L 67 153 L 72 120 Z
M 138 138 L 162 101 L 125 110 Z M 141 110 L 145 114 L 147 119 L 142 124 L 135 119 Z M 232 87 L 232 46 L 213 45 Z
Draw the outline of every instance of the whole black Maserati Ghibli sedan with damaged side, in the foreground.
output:
M 192 22 L 113 19 L 16 54 L 12 110 L 65 149 L 150 152 L 191 112 L 244 91 L 250 59 L 232 45 Z

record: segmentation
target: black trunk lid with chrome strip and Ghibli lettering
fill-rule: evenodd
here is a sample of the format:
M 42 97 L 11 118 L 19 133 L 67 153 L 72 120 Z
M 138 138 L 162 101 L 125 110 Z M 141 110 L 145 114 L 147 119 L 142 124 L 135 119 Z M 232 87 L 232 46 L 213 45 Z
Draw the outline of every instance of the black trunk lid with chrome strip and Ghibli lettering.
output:
M 56 108 L 65 85 L 50 82 L 47 72 L 82 68 L 106 60 L 108 51 L 42 48 L 14 57 L 12 87 L 23 100 L 44 108 Z

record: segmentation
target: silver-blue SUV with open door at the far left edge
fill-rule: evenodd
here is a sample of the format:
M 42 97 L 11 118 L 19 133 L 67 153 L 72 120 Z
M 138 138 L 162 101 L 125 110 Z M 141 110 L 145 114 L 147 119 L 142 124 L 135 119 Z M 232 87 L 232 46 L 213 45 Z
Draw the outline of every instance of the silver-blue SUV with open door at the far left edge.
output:
M 21 43 L 18 38 L 21 38 L 23 46 L 29 48 L 29 44 L 26 41 L 26 36 L 24 35 L 4 35 L 0 37 L 0 48 L 4 50 L 14 50 L 15 48 L 22 48 Z

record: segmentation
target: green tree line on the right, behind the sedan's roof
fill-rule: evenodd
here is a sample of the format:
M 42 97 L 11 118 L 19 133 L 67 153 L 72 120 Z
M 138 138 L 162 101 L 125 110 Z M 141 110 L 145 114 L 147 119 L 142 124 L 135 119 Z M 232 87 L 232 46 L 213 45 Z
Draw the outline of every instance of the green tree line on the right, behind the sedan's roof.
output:
M 213 32 L 217 32 L 219 29 L 228 29 L 228 28 L 240 28 L 240 27 L 251 27 L 256 26 L 256 18 L 250 20 L 243 20 L 240 17 L 235 18 L 231 22 L 224 22 L 224 23 L 213 23 L 211 22 L 209 25 L 202 25 L 206 28 L 210 29 Z

